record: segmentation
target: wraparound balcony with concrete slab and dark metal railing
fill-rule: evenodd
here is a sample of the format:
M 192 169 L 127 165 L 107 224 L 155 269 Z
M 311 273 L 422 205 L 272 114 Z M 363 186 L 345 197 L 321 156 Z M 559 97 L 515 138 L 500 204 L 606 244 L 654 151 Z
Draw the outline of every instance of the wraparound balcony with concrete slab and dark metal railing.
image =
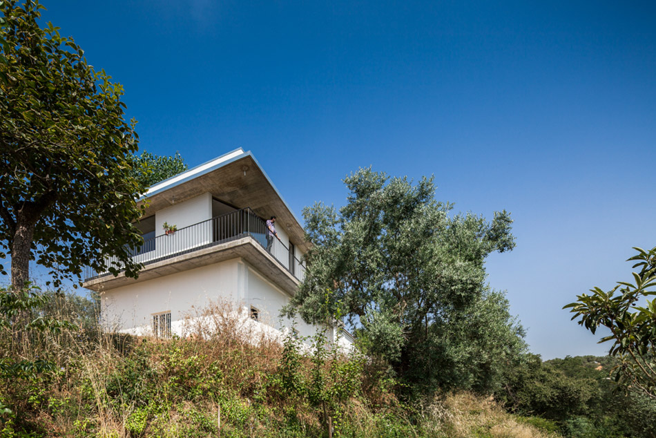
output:
M 293 278 L 293 286 L 305 278 L 305 265 L 280 240 L 274 236 L 267 238 L 266 222 L 250 208 L 146 239 L 140 247 L 132 249 L 131 257 L 144 265 L 137 280 L 148 280 L 233 257 L 254 262 L 273 276 L 280 274 L 273 271 L 281 271 L 283 277 Z M 107 264 L 119 265 L 116 258 L 109 258 Z M 84 286 L 95 290 L 119 287 L 128 281 L 122 274 L 114 277 L 109 272 L 95 272 L 90 268 L 85 270 L 84 278 Z M 287 278 L 283 280 L 286 280 L 283 283 L 289 283 Z

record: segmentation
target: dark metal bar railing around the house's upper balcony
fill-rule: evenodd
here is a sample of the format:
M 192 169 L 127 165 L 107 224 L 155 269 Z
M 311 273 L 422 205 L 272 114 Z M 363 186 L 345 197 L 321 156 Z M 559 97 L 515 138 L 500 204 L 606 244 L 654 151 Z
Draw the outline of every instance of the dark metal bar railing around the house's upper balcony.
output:
M 266 222 L 250 208 L 245 208 L 178 229 L 171 234 L 145 239 L 140 247 L 131 249 L 131 257 L 137 263 L 149 265 L 231 240 L 251 237 L 284 269 L 302 281 L 305 278 L 305 265 L 284 243 L 268 234 Z M 108 258 L 106 265 L 117 267 L 118 259 Z M 107 271 L 95 272 L 90 267 L 84 270 L 85 281 L 106 275 L 109 275 Z

